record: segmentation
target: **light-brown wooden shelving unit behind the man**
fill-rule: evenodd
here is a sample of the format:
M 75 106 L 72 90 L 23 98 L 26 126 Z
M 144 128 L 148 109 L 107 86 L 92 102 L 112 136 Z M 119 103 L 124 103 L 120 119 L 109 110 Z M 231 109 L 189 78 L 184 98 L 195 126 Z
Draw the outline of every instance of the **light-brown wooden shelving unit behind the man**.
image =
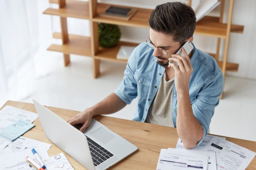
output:
M 195 29 L 195 34 L 216 37 L 218 39 L 216 54 L 211 55 L 217 60 L 224 76 L 226 71 L 238 71 L 239 67 L 236 63 L 227 62 L 230 32 L 243 33 L 244 30 L 244 26 L 234 25 L 231 23 L 234 0 L 229 1 L 230 6 L 227 23 L 222 23 L 224 0 L 221 0 L 220 17 L 206 16 L 198 21 Z M 97 0 L 89 0 L 89 2 L 77 0 L 49 0 L 49 2 L 58 4 L 59 8 L 47 8 L 44 11 L 44 14 L 57 15 L 60 17 L 61 33 L 54 33 L 53 38 L 62 39 L 63 44 L 52 44 L 49 46 L 48 50 L 62 52 L 64 55 L 65 66 L 70 63 L 70 54 L 92 57 L 94 78 L 97 78 L 100 74 L 100 60 L 126 63 L 127 60 L 116 59 L 116 54 L 119 51 L 120 45 L 138 45 L 137 43 L 131 42 L 119 42 L 119 44 L 113 48 L 99 48 L 98 23 L 149 28 L 148 18 L 152 11 L 151 9 L 136 8 L 136 14 L 134 14 L 131 20 L 126 21 L 98 16 L 98 13 L 101 12 L 108 4 L 98 3 Z M 191 4 L 191 0 L 188 0 L 188 4 Z M 68 34 L 67 17 L 89 20 L 91 37 Z M 221 38 L 226 40 L 223 61 L 219 61 L 218 59 Z

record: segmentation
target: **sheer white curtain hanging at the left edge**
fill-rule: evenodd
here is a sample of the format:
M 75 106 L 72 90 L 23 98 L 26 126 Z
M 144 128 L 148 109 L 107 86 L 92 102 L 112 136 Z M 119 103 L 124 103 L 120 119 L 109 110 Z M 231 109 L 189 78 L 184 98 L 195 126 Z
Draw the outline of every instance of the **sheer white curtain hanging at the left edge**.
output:
M 38 1 L 0 0 L 0 102 L 32 94 L 37 49 Z

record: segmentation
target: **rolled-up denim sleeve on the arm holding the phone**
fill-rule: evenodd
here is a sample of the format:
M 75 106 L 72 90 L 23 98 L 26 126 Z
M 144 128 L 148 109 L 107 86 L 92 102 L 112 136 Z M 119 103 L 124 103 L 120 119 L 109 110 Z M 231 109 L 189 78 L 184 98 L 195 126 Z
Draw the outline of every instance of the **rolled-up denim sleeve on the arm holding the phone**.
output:
M 196 101 L 192 104 L 194 116 L 204 130 L 204 136 L 197 143 L 197 146 L 201 144 L 207 135 L 214 109 L 219 104 L 219 97 L 223 90 L 223 81 L 223 74 L 221 71 L 218 71 L 212 79 L 209 79 L 206 88 L 198 94 Z

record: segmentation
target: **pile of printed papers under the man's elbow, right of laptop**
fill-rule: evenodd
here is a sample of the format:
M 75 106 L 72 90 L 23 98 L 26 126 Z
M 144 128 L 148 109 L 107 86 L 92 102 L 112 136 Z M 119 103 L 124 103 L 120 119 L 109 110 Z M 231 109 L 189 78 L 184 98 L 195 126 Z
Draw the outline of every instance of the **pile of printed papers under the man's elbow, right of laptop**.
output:
M 176 148 L 162 149 L 157 170 L 245 170 L 256 153 L 223 137 L 207 135 L 204 141 L 186 150 L 178 139 Z M 207 164 L 204 162 L 207 159 Z

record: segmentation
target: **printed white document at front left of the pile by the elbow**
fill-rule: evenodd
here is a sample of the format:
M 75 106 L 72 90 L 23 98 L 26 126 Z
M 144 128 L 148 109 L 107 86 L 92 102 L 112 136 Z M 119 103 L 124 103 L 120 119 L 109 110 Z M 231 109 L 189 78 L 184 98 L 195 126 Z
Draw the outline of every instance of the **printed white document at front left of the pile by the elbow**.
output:
M 157 170 L 207 170 L 208 155 L 185 149 L 161 149 Z

